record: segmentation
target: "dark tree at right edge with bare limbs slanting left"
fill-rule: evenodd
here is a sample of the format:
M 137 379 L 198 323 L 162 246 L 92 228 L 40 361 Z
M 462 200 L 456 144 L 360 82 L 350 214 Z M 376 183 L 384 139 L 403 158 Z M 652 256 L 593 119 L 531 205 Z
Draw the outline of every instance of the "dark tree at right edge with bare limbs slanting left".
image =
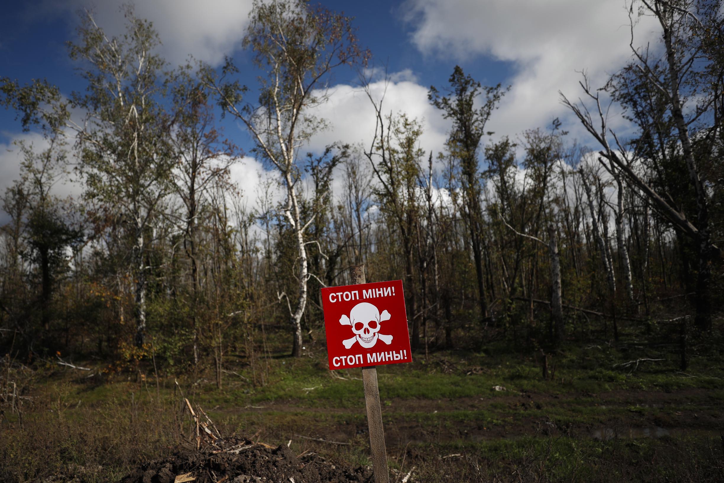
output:
M 636 13 L 634 13 L 636 7 Z M 711 328 L 710 297 L 711 264 L 720 249 L 712 242 L 710 227 L 711 194 L 707 190 L 707 174 L 713 173 L 717 138 L 721 135 L 720 112 L 722 74 L 720 41 L 724 18 L 721 1 L 699 0 L 637 0 L 631 4 L 631 52 L 633 59 L 614 76 L 607 90 L 627 109 L 625 115 L 639 127 L 633 146 L 641 150 L 668 151 L 662 156 L 675 156 L 683 161 L 689 177 L 694 207 L 677 206 L 670 194 L 654 189 L 644 181 L 622 156 L 623 143 L 607 127 L 605 109 L 599 93 L 593 93 L 586 78 L 581 83 L 587 98 L 596 106 L 590 114 L 583 101 L 573 103 L 563 97 L 586 130 L 602 146 L 602 159 L 615 164 L 628 182 L 649 198 L 661 214 L 679 232 L 689 236 L 696 246 L 698 266 L 696 276 L 696 324 L 700 329 Z M 653 17 L 660 27 L 660 49 L 634 45 L 637 18 Z M 623 83 L 635 85 L 635 96 L 626 93 Z M 633 82 L 632 82 L 633 81 Z M 656 98 L 654 109 L 646 112 L 639 101 Z M 638 112 L 638 114 L 637 114 Z M 644 115 L 640 115 L 642 113 Z M 633 113 L 633 115 L 632 115 Z M 653 114 L 653 115 L 652 115 Z M 693 214 L 692 214 L 693 212 Z

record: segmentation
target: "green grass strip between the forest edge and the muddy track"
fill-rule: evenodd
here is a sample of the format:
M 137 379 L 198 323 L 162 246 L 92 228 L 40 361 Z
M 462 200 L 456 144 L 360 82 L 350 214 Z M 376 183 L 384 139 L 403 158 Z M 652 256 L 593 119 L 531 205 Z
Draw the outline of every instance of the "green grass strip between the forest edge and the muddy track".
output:
M 602 354 L 598 366 L 587 369 L 578 366 L 581 356 L 568 354 L 552 358 L 556 365 L 555 378 L 543 380 L 539 365 L 531 358 L 521 361 L 515 356 L 489 357 L 483 354 L 436 354 L 429 363 L 418 360 L 413 364 L 380 366 L 379 390 L 382 398 L 400 399 L 460 399 L 497 398 L 524 392 L 565 395 L 571 392 L 600 393 L 613 391 L 673 392 L 688 388 L 705 390 L 724 389 L 722 371 L 702 368 L 713 374 L 686 377 L 678 374 L 675 365 L 667 362 L 643 362 L 636 371 L 615 369 L 610 354 Z M 441 370 L 441 360 L 452 361 L 456 367 L 483 366 L 483 374 L 466 374 L 462 370 L 452 373 Z M 268 403 L 294 401 L 298 406 L 352 408 L 363 399 L 359 369 L 341 371 L 347 380 L 333 379 L 324 360 L 301 358 L 269 361 L 271 375 L 263 387 L 231 388 L 222 393 L 211 387 L 202 390 L 201 398 L 209 404 Z M 695 371 L 696 368 L 690 369 Z M 240 374 L 251 377 L 248 369 Z M 230 379 L 227 379 L 229 381 Z M 233 381 L 233 379 L 231 379 Z M 506 387 L 505 392 L 492 390 L 493 386 Z

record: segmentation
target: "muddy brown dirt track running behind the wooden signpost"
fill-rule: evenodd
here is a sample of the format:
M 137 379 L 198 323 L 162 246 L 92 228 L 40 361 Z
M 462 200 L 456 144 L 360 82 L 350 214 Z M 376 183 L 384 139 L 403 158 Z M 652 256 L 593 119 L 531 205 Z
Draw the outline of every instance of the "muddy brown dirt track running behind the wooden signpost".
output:
M 565 395 L 571 398 L 571 394 Z M 565 432 L 573 437 L 607 439 L 610 437 L 662 437 L 689 434 L 691 432 L 712 434 L 724 429 L 724 414 L 721 400 L 708 390 L 688 388 L 676 392 L 623 391 L 581 394 L 576 397 L 596 402 L 583 403 L 583 408 L 592 411 L 618 410 L 615 416 L 593 422 L 569 422 L 556 426 L 547 413 L 557 406 L 570 408 L 569 401 L 562 401 L 560 395 L 526 392 L 519 395 L 497 396 L 495 398 L 461 399 L 395 399 L 383 409 L 384 434 L 388 448 L 405 446 L 415 442 L 445 442 L 459 440 L 497 440 L 507 437 L 533 436 Z M 593 407 L 592 407 L 593 406 Z M 500 416 L 493 424 L 474 418 L 446 418 L 446 411 L 489 411 Z M 319 422 L 330 413 L 343 416 L 358 416 L 354 421 L 342 422 L 334 427 L 323 427 L 315 434 L 324 440 L 348 441 L 358 434 L 366 434 L 366 419 L 363 408 L 309 408 L 287 403 L 266 403 L 263 408 L 219 408 L 221 413 L 314 413 L 320 415 Z M 408 419 L 405 413 L 425 413 L 429 416 L 442 414 L 444 424 L 433 427 L 420 421 Z

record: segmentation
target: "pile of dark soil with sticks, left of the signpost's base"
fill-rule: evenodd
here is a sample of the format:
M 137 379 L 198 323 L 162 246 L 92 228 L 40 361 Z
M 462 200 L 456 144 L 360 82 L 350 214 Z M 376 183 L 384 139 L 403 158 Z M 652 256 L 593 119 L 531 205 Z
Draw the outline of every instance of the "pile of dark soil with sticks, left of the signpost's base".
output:
M 140 466 L 122 483 L 348 483 L 371 481 L 369 469 L 335 466 L 316 453 L 294 455 L 246 439 L 224 438 Z

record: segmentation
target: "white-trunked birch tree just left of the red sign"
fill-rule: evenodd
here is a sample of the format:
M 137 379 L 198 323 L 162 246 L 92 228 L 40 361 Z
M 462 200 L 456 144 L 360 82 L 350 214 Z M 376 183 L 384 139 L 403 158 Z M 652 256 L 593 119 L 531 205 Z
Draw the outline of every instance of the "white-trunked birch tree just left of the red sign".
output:
M 330 75 L 337 67 L 366 62 L 358 47 L 352 19 L 323 7 L 313 9 L 306 1 L 255 1 L 244 46 L 254 54 L 258 77 L 258 101 L 247 99 L 248 88 L 228 77 L 238 72 L 227 59 L 222 76 L 207 71 L 207 83 L 216 91 L 224 112 L 238 119 L 256 144 L 254 154 L 269 162 L 285 192 L 282 213 L 295 238 L 298 258 L 296 295 L 287 296 L 294 331 L 292 355 L 300 356 L 301 320 L 307 303 L 309 272 L 307 229 L 315 214 L 303 216 L 298 183 L 303 170 L 299 151 L 324 120 L 313 108 L 327 101 Z M 250 95 L 251 97 L 251 95 Z

